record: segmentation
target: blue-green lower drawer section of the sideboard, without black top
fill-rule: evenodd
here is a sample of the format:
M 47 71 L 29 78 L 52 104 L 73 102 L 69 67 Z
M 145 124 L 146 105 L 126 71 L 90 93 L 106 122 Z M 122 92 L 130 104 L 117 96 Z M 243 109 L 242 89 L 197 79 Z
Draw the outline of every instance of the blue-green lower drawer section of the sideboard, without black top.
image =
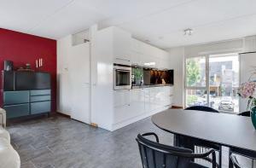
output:
M 50 90 L 20 90 L 3 92 L 3 109 L 7 119 L 49 113 L 51 107 Z

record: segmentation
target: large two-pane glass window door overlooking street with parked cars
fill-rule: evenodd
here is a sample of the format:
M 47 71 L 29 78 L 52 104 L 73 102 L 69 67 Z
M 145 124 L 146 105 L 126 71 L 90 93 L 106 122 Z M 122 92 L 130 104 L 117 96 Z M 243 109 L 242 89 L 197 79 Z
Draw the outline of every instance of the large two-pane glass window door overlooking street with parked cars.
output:
M 239 56 L 206 55 L 186 59 L 186 107 L 208 106 L 238 113 Z

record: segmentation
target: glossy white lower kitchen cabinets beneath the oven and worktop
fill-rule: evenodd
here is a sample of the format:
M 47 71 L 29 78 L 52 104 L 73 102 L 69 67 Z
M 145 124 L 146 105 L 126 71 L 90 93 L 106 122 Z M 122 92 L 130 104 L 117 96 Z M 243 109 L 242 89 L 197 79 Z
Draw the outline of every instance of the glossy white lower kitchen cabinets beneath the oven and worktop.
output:
M 113 130 L 172 106 L 172 86 L 114 91 L 114 101 Z

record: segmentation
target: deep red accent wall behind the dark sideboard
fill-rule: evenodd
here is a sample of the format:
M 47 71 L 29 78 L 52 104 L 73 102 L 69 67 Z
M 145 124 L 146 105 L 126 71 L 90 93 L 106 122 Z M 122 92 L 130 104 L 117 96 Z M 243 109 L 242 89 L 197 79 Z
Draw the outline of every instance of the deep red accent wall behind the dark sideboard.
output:
M 44 66 L 37 71 L 50 72 L 52 84 L 52 111 L 56 111 L 56 40 L 0 28 L 0 70 L 3 61 L 14 61 L 14 67 L 30 63 L 36 69 L 36 60 L 43 58 Z

